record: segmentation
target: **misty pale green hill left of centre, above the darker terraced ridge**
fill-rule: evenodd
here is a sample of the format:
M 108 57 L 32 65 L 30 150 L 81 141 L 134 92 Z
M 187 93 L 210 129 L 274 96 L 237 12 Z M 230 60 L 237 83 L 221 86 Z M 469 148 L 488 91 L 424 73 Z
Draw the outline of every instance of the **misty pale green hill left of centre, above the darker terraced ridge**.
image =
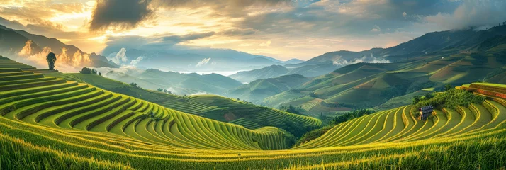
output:
M 239 81 L 220 74 L 184 74 L 179 72 L 163 72 L 158 69 L 133 69 L 128 72 L 106 72 L 106 77 L 136 83 L 145 89 L 167 89 L 173 94 L 223 94 L 228 89 L 236 88 L 242 84 Z

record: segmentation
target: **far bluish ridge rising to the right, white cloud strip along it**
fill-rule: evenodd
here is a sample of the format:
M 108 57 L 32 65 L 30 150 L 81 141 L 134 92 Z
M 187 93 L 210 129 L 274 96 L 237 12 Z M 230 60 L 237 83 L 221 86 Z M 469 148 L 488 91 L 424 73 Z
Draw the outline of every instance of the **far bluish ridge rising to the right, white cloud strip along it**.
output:
M 339 69 L 340 67 L 359 62 L 398 62 L 410 57 L 427 55 L 432 52 L 439 52 L 454 47 L 458 47 L 460 50 L 467 50 L 485 40 L 501 35 L 506 35 L 505 26 L 496 26 L 488 30 L 475 30 L 475 28 L 469 28 L 466 30 L 439 31 L 427 33 L 419 38 L 401 43 L 394 47 L 372 48 L 371 50 L 360 52 L 346 50 L 327 52 L 323 55 L 313 57 L 308 61 L 298 64 L 285 64 L 283 67 L 288 69 L 286 74 L 301 74 L 305 77 L 317 77 L 332 72 L 335 69 Z M 242 75 L 241 77 L 262 77 L 261 75 L 257 75 L 255 70 L 242 72 L 240 75 Z M 230 77 L 234 78 L 238 77 L 238 75 Z M 262 78 L 268 77 L 269 76 L 263 76 Z

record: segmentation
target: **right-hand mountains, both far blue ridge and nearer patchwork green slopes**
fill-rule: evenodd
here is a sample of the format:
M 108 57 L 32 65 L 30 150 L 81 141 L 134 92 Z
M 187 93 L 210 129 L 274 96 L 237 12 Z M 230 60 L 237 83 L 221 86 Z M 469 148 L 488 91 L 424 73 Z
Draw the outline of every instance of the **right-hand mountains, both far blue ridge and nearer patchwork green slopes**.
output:
M 314 78 L 264 101 L 259 101 L 261 93 L 251 88 L 257 81 L 289 74 Z M 252 83 L 229 91 L 229 95 L 252 98 L 274 108 L 292 105 L 317 116 L 352 108 L 389 109 L 397 107 L 388 102 L 392 98 L 410 101 L 412 96 L 442 89 L 445 84 L 506 83 L 505 75 L 506 26 L 496 26 L 427 33 L 395 47 L 327 52 L 298 64 L 239 72 L 230 77 Z

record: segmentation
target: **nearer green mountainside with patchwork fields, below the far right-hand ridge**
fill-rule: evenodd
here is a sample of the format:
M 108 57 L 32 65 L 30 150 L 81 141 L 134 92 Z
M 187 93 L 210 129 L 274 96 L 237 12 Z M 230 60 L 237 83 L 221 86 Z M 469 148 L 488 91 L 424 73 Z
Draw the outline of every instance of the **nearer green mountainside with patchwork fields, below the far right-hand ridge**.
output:
M 305 114 L 317 115 L 345 108 L 373 108 L 393 98 L 397 98 L 395 101 L 411 100 L 412 96 L 424 94 L 420 91 L 437 91 L 446 84 L 455 86 L 474 81 L 505 83 L 506 36 L 495 32 L 502 31 L 502 28 L 506 26 L 490 28 L 492 33 L 474 32 L 494 35 L 483 41 L 452 43 L 463 46 L 399 58 L 393 63 L 347 65 L 315 77 L 296 89 L 265 98 L 264 104 L 272 107 L 301 106 L 308 111 Z M 471 45 L 471 42 L 478 43 Z M 398 105 L 383 104 L 378 108 L 389 109 L 392 106 Z

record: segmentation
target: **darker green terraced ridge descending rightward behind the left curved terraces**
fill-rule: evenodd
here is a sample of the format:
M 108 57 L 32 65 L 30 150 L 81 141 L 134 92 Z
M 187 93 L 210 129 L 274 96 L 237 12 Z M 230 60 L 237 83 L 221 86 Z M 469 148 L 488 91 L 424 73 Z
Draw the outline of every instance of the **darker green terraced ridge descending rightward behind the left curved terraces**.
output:
M 172 108 L 176 111 L 199 115 L 203 118 L 210 118 L 222 122 L 234 123 L 236 125 L 244 125 L 244 127 L 247 128 L 257 129 L 266 126 L 274 126 L 277 128 L 286 128 L 286 130 L 293 135 L 300 136 L 304 132 L 317 128 L 322 124 L 320 120 L 315 118 L 286 113 L 273 108 L 256 106 L 251 103 L 221 96 L 176 96 L 159 91 L 138 88 L 96 74 L 62 74 L 59 72 L 45 72 L 40 69 L 34 69 L 31 72 L 38 72 L 45 76 L 50 75 L 52 77 L 66 79 L 67 81 L 79 81 L 81 83 L 91 84 L 118 94 L 157 103 L 160 106 Z M 267 117 L 269 120 L 265 120 Z M 288 127 L 287 124 L 290 123 L 296 124 L 298 127 Z

